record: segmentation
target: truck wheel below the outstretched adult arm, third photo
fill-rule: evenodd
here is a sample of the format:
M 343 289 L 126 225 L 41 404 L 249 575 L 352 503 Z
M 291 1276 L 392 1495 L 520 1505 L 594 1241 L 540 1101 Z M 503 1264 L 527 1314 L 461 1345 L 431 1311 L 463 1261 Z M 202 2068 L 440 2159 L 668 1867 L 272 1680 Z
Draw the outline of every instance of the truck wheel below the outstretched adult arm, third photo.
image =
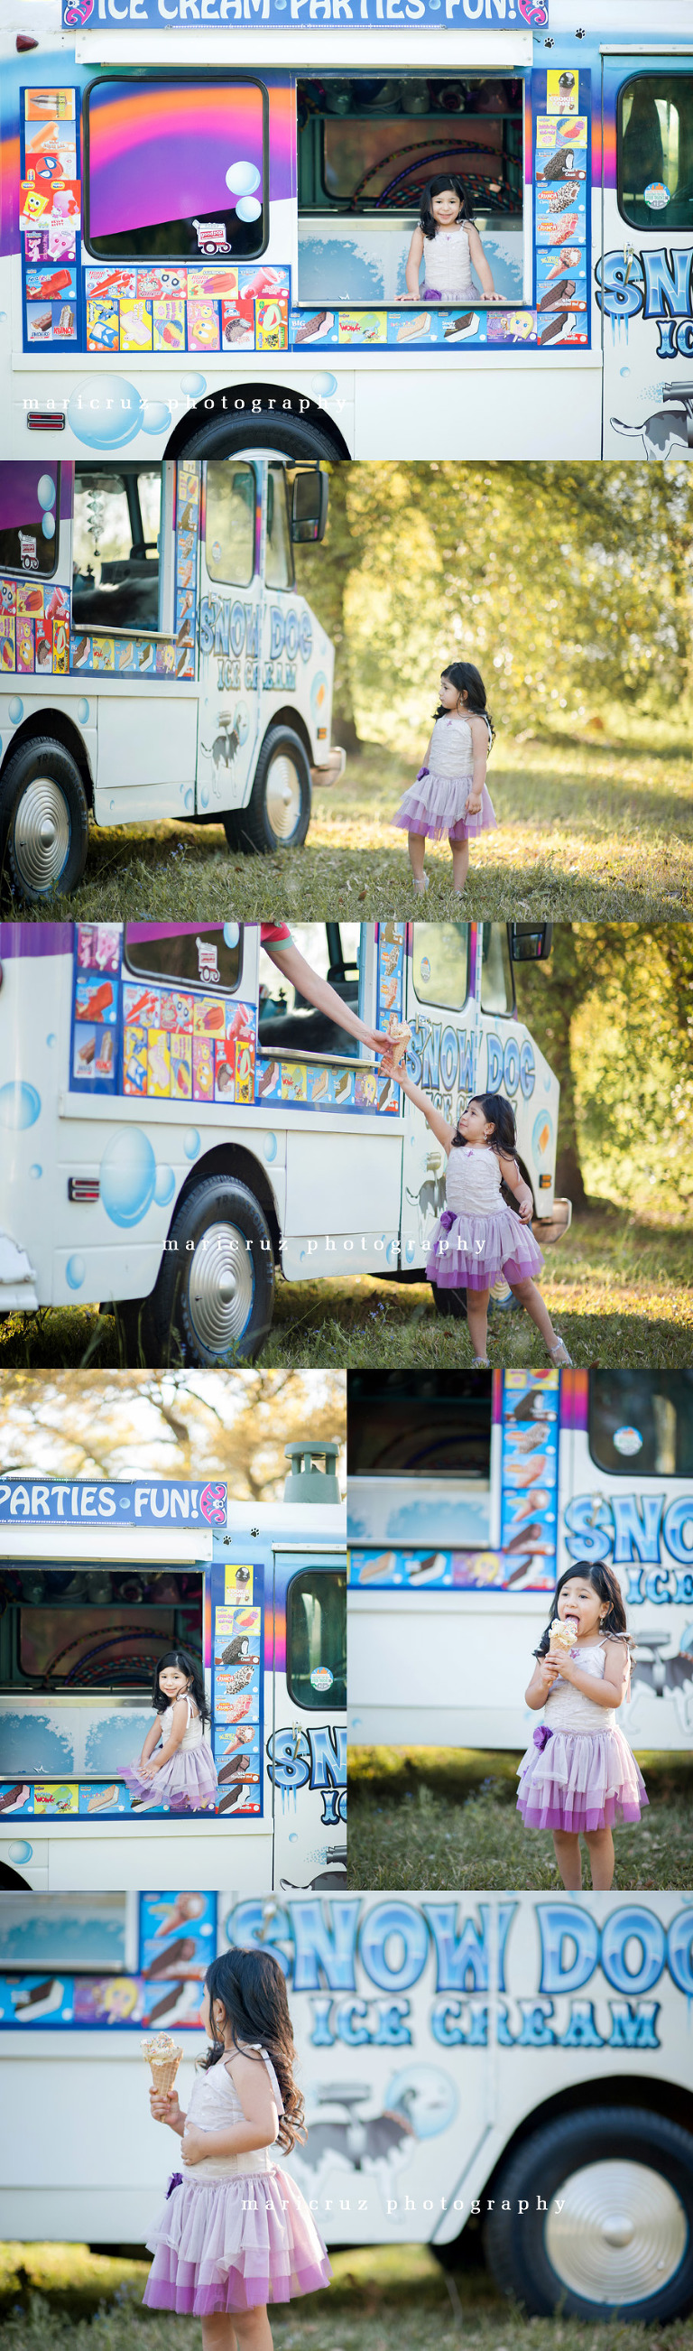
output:
M 249 1185 L 202 1176 L 174 1215 L 141 1317 L 148 1364 L 251 1364 L 275 1305 L 270 1227 Z

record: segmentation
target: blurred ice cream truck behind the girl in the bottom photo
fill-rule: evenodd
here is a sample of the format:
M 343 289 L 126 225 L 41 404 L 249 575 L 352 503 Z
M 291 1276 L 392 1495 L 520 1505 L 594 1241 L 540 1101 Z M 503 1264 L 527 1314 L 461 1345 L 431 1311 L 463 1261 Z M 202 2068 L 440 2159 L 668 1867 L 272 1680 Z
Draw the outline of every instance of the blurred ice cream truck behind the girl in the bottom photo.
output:
M 150 2123 L 141 2041 L 183 2052 L 186 2109 L 200 1977 L 230 1944 L 287 1972 L 308 2118 L 289 2170 L 329 2245 L 430 2243 L 446 2271 L 477 2245 L 540 2318 L 684 2318 L 693 1909 L 677 1893 L 5 1893 L 7 2238 L 143 2243 L 174 2142 Z

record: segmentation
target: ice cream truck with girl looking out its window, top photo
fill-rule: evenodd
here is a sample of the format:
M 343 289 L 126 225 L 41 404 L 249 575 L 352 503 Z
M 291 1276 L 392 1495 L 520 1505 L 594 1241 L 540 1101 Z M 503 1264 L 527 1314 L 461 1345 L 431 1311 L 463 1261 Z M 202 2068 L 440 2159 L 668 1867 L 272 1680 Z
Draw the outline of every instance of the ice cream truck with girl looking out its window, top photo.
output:
M 7 456 L 686 456 L 688 0 L 2 0 L 2 26 Z M 442 292 L 435 247 L 406 261 L 449 172 L 484 261 Z

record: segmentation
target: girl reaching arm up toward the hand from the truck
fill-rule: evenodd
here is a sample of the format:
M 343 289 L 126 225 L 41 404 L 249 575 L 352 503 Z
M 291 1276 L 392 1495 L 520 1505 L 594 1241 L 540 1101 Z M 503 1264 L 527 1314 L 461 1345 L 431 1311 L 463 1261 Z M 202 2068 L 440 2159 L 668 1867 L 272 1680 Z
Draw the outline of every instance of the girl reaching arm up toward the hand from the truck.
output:
M 446 1206 L 430 1239 L 425 1274 L 435 1288 L 467 1291 L 475 1368 L 489 1366 L 489 1291 L 498 1272 L 505 1274 L 514 1298 L 536 1321 L 552 1364 L 568 1364 L 568 1349 L 531 1279 L 543 1267 L 543 1253 L 531 1232 L 533 1199 L 517 1166 L 510 1103 L 503 1093 L 479 1093 L 463 1110 L 458 1126 L 449 1126 L 449 1119 L 432 1107 L 423 1086 L 413 1086 L 406 1070 L 395 1070 L 388 1060 L 383 1060 L 383 1070 L 423 1110 L 437 1143 L 449 1154 Z M 500 1183 L 514 1194 L 517 1211 L 505 1208 Z

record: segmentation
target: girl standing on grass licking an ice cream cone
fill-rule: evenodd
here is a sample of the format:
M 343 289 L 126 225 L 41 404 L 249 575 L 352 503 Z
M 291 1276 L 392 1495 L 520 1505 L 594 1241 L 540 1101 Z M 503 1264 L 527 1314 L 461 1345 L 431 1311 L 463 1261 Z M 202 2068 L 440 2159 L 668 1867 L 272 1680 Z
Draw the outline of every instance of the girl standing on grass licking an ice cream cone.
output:
M 519 1763 L 517 1810 L 526 1829 L 552 1829 L 561 1883 L 583 1886 L 580 1836 L 587 1838 L 592 1888 L 613 1881 L 615 1820 L 639 1820 L 644 1777 L 618 1730 L 615 1709 L 630 1688 L 630 1639 L 618 1578 L 601 1561 L 580 1559 L 557 1582 L 552 1617 L 573 1632 L 571 1648 L 554 1646 L 547 1625 L 526 1704 L 543 1723 Z

